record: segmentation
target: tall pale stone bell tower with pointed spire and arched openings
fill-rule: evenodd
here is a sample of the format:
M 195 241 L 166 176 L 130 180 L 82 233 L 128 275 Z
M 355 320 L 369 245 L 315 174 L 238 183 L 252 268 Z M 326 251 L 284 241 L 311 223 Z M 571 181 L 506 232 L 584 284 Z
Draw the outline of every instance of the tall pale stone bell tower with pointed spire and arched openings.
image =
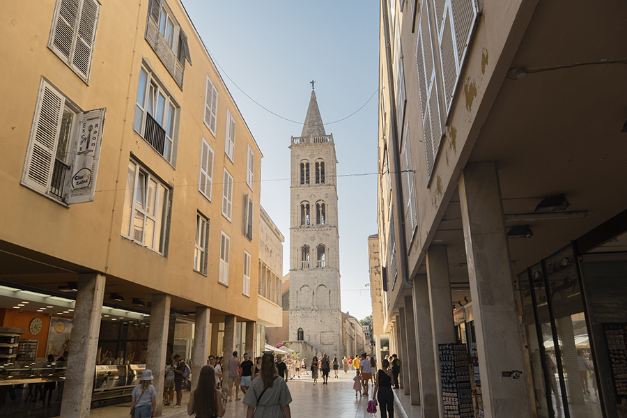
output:
M 342 322 L 335 145 L 312 91 L 291 144 L 290 334 L 341 358 Z

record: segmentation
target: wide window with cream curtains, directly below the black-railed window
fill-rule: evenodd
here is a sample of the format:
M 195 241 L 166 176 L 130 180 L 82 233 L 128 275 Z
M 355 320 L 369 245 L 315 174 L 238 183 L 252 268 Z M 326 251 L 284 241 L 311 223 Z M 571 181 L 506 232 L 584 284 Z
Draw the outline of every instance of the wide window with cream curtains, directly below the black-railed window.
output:
M 169 189 L 134 161 L 128 163 L 122 235 L 164 252 Z

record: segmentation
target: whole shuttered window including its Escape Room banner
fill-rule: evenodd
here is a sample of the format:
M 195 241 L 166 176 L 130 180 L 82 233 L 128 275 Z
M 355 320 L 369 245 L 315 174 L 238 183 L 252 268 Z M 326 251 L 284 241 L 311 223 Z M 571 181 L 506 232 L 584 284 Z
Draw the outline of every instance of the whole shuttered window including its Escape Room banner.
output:
M 80 111 L 42 78 L 22 185 L 63 203 L 93 201 L 105 110 Z

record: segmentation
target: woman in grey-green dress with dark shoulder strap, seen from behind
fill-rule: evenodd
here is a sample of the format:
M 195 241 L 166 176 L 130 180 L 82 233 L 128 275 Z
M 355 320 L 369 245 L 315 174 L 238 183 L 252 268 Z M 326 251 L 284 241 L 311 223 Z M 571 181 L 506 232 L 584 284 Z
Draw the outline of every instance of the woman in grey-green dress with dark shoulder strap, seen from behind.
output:
M 272 354 L 261 359 L 261 373 L 251 382 L 244 404 L 248 405 L 246 418 L 291 418 L 292 396 L 285 380 L 279 379 Z

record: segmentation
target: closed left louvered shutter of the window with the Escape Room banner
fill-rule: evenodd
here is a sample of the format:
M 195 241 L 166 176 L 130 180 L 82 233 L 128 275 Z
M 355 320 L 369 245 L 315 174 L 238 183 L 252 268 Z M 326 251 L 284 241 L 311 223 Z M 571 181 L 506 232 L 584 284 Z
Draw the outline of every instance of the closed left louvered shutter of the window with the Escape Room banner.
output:
M 22 183 L 38 192 L 48 192 L 64 102 L 61 94 L 42 82 L 22 175 Z

